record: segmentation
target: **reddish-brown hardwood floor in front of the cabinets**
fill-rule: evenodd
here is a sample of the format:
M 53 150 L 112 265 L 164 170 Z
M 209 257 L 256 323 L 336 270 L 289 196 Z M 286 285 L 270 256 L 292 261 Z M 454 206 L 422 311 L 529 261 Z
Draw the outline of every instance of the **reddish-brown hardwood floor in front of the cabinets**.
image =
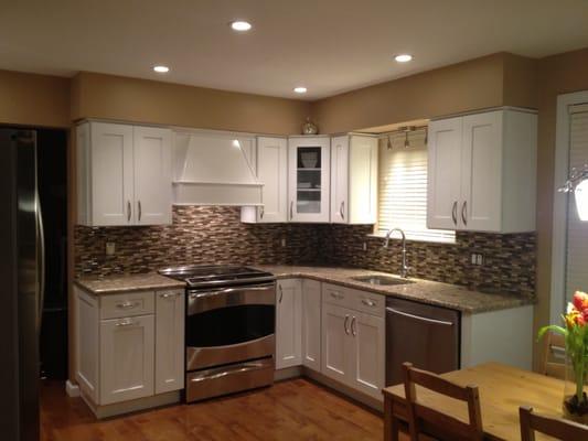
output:
M 254 392 L 97 421 L 62 383 L 41 392 L 41 441 L 382 440 L 383 420 L 302 378 Z

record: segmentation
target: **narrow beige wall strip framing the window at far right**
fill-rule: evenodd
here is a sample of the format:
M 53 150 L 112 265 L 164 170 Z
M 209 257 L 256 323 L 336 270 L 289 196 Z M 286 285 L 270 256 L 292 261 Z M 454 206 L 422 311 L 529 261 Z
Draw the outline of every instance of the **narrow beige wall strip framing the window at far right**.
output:
M 535 327 L 549 320 L 552 229 L 557 96 L 588 89 L 588 49 L 549 56 L 537 64 L 537 297 Z

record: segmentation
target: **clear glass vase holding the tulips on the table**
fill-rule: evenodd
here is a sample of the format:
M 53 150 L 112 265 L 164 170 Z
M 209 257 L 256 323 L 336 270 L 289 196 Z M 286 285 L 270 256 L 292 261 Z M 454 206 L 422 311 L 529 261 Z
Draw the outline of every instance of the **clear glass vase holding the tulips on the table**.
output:
M 564 387 L 564 418 L 588 424 L 588 352 L 584 345 L 569 347 L 566 343 L 566 383 Z

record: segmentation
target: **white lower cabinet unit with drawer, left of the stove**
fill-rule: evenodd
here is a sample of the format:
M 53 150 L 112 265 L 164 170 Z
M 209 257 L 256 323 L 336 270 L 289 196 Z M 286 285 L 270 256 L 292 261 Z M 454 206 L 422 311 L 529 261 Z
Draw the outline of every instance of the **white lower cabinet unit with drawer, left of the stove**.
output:
M 184 291 L 93 295 L 76 287 L 75 293 L 75 376 L 96 416 L 177 401 L 184 385 Z M 139 399 L 147 400 L 142 407 Z M 121 406 L 131 400 L 135 407 Z

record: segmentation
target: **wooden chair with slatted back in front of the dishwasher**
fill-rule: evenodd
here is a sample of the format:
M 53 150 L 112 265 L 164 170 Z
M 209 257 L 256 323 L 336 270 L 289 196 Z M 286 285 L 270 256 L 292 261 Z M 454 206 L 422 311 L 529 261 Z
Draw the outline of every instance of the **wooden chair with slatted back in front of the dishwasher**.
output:
M 482 412 L 478 387 L 461 387 L 432 373 L 416 369 L 410 363 L 403 364 L 404 387 L 408 410 L 410 441 L 421 434 L 446 441 L 479 441 L 483 439 Z M 417 401 L 415 385 L 468 404 L 469 423 L 457 420 Z

